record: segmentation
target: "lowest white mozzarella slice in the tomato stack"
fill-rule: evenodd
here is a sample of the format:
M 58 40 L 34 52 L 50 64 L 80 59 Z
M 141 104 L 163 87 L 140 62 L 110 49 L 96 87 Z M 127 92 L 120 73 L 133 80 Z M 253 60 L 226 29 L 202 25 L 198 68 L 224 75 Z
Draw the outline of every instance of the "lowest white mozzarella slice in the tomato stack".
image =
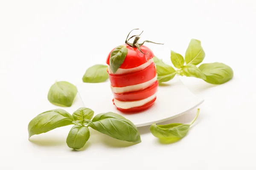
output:
M 122 102 L 122 101 L 119 101 L 117 99 L 114 99 L 114 103 L 115 103 L 117 108 L 129 109 L 129 108 L 143 106 L 146 103 L 148 103 L 151 100 L 153 100 L 156 96 L 157 96 L 156 94 L 153 94 L 152 96 L 150 96 L 150 97 L 148 97 L 146 99 L 132 101 L 132 102 Z

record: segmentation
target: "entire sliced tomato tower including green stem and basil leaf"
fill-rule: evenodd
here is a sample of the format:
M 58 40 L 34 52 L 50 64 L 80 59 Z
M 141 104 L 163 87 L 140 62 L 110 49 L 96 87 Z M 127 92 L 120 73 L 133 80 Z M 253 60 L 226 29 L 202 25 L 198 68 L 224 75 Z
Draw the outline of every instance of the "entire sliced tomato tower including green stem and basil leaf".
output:
M 146 99 L 156 94 L 157 87 L 158 87 L 158 81 L 154 79 L 157 75 L 156 66 L 154 62 L 152 63 L 151 61 L 148 62 L 150 59 L 154 57 L 154 54 L 148 47 L 143 45 L 144 42 L 151 42 L 151 43 L 155 43 L 155 42 L 145 40 L 144 42 L 139 43 L 138 41 L 140 39 L 139 37 L 140 35 L 133 35 L 130 38 L 128 38 L 130 33 L 128 34 L 125 40 L 125 45 L 119 45 L 116 48 L 113 48 L 113 50 L 111 50 L 110 53 L 108 54 L 108 57 L 106 60 L 106 63 L 109 65 L 109 68 L 113 69 L 111 71 L 108 71 L 108 74 L 109 74 L 109 79 L 112 86 L 111 89 L 112 89 L 114 99 L 122 102 L 135 102 L 142 99 Z M 133 37 L 135 37 L 133 43 L 128 42 Z M 160 43 L 155 43 L 155 44 L 160 44 Z M 110 63 L 110 60 L 111 60 L 111 63 Z M 143 66 L 139 67 L 140 65 L 143 65 Z M 119 68 L 120 70 L 118 72 Z M 131 68 L 135 68 L 135 69 L 131 69 Z M 130 69 L 130 70 L 125 71 L 125 69 Z M 143 85 L 140 85 L 140 84 L 143 84 Z M 133 85 L 138 85 L 138 86 L 133 86 Z M 124 91 L 125 93 L 122 93 Z M 114 92 L 116 93 L 120 92 L 122 94 L 116 94 Z M 113 99 L 113 104 L 115 105 L 114 99 Z M 156 97 L 154 97 L 154 99 L 152 99 L 150 102 L 139 107 L 134 107 L 129 109 L 123 109 L 118 107 L 116 108 L 119 111 L 122 111 L 125 113 L 139 112 L 139 111 L 143 111 L 145 109 L 150 108 L 152 105 L 154 105 L 155 100 L 156 100 Z

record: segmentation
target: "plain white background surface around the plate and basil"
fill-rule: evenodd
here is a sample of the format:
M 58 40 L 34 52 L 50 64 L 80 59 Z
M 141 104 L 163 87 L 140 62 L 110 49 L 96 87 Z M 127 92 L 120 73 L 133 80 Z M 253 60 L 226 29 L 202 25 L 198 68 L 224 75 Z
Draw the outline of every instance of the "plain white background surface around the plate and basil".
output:
M 195 38 L 204 63 L 233 68 L 234 78 L 223 85 L 180 78 L 205 99 L 189 134 L 160 144 L 148 126 L 140 127 L 142 143 L 131 145 L 92 131 L 84 149 L 73 151 L 65 143 L 70 125 L 29 142 L 29 121 L 56 108 L 47 101 L 55 80 L 80 81 L 133 28 L 144 30 L 142 40 L 165 43 L 148 44 L 159 58 L 169 60 L 170 50 L 185 54 Z M 0 169 L 254 170 L 255 30 L 255 0 L 1 0 Z M 190 122 L 194 115 L 169 122 Z

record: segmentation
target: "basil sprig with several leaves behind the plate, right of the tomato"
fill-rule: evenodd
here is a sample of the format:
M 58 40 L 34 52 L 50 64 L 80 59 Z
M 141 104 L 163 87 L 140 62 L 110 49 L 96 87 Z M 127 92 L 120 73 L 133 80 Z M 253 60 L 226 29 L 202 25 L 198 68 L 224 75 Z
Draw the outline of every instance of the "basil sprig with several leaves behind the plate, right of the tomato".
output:
M 154 57 L 154 62 L 157 66 L 158 82 L 167 82 L 176 74 L 186 77 L 196 77 L 203 79 L 211 84 L 223 84 L 233 78 L 233 70 L 230 66 L 219 62 L 200 64 L 205 57 L 205 52 L 199 40 L 192 39 L 186 50 L 185 59 L 182 55 L 171 51 L 172 64 L 178 70 L 175 71 L 172 66 L 163 63 L 161 59 Z M 186 62 L 186 65 L 184 65 Z

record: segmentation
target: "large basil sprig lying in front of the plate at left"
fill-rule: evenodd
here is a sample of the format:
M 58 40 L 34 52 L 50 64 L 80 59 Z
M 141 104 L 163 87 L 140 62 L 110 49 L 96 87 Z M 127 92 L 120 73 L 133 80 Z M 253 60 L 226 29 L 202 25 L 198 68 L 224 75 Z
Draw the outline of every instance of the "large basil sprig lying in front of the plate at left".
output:
M 93 114 L 93 110 L 89 108 L 79 108 L 72 116 L 63 109 L 46 111 L 29 122 L 29 138 L 57 127 L 74 124 L 66 139 L 67 146 L 73 149 L 84 147 L 84 144 L 90 138 L 88 127 L 119 140 L 134 143 L 141 142 L 137 127 L 125 117 L 108 112 L 100 113 L 93 118 Z

